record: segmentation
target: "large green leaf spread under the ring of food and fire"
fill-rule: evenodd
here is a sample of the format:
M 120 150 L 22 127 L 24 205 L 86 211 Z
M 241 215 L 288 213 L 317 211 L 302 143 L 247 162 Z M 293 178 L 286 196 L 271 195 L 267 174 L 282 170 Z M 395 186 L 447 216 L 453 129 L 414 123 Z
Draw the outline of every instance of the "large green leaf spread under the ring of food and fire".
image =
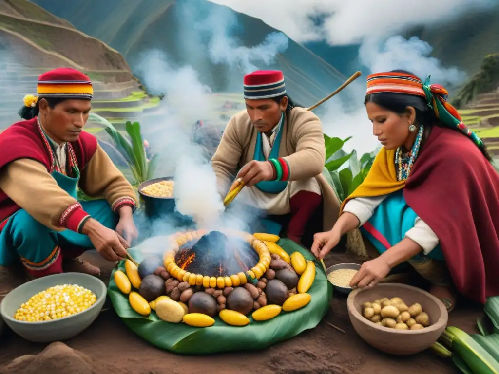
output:
M 306 259 L 314 259 L 307 250 L 289 239 L 281 239 L 278 244 L 289 254 L 298 251 Z M 142 260 L 140 252 L 130 249 L 130 254 L 137 261 Z M 124 270 L 123 261 L 118 268 Z M 332 286 L 320 266 L 316 266 L 315 281 L 308 293 L 312 300 L 307 306 L 289 313 L 281 312 L 269 321 L 255 322 L 249 316 L 249 325 L 234 327 L 216 317 L 215 325 L 196 328 L 183 323 L 164 322 L 154 312 L 149 317 L 142 317 L 131 308 L 127 296 L 118 290 L 114 276 L 111 276 L 108 286 L 112 305 L 130 330 L 162 350 L 184 355 L 261 350 L 291 339 L 304 330 L 313 329 L 327 312 L 332 297 Z

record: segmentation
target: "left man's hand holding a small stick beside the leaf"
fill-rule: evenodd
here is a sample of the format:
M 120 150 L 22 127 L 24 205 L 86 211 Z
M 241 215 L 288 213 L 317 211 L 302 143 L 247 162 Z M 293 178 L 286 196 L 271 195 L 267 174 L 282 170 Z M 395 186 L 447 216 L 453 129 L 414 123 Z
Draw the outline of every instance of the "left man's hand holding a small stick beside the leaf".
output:
M 88 219 L 82 228 L 82 233 L 90 238 L 97 252 L 108 261 L 119 261 L 126 258 L 125 248 L 130 244 L 116 231 L 100 224 L 93 218 Z

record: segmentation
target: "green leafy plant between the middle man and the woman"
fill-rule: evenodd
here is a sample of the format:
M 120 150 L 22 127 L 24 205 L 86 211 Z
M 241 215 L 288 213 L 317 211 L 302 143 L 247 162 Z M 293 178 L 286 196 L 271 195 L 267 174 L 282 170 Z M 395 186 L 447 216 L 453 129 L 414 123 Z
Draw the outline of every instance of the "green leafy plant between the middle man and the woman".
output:
M 349 139 L 341 140 L 340 138 L 330 138 L 324 135 L 326 146 L 326 164 L 324 168 L 327 171 L 324 171 L 324 173 L 326 179 L 334 186 L 340 201 L 343 201 L 364 181 L 376 157 L 376 152 L 371 152 L 362 155 L 358 160 L 355 150 L 346 153 L 342 147 Z M 348 167 L 342 168 L 346 162 L 349 164 Z

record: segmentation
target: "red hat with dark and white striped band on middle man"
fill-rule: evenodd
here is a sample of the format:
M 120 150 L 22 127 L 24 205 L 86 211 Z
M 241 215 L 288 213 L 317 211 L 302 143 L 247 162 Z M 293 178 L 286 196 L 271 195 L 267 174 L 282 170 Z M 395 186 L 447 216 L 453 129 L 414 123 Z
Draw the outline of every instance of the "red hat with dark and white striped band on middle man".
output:
M 245 99 L 270 99 L 286 93 L 284 74 L 279 70 L 257 70 L 244 78 Z

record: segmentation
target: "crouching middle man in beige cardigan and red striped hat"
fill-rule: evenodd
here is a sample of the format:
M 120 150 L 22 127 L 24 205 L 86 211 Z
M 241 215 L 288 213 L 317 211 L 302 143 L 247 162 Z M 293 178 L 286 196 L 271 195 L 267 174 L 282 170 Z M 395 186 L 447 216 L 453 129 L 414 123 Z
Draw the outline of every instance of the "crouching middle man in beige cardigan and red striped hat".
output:
M 212 158 L 220 194 L 226 195 L 235 177 L 243 178 L 247 187 L 236 201 L 268 215 L 289 215 L 286 236 L 297 243 L 321 205 L 323 227 L 330 229 L 339 201 L 321 174 L 325 146 L 319 118 L 286 95 L 281 71 L 247 74 L 244 97 L 246 110 L 229 121 Z

